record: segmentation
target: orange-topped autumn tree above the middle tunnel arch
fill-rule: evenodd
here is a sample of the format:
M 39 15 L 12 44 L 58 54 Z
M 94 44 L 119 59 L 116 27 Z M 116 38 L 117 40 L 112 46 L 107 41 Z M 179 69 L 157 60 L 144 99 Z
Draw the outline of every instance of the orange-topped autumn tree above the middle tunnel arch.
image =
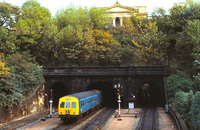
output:
M 92 35 L 91 35 L 92 33 Z M 112 35 L 107 31 L 93 30 L 85 36 L 87 41 L 84 45 L 84 59 L 91 65 L 119 65 L 121 52 L 120 44 L 115 41 Z

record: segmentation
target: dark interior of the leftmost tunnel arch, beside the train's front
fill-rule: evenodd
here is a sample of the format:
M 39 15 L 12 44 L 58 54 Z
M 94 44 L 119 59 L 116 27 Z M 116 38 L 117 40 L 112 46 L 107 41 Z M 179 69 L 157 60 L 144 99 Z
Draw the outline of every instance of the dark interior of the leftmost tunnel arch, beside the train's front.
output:
M 64 84 L 61 83 L 54 83 L 50 90 L 53 90 L 53 107 L 58 108 L 59 98 L 68 95 L 69 90 Z M 49 90 L 49 99 L 50 99 L 50 90 Z

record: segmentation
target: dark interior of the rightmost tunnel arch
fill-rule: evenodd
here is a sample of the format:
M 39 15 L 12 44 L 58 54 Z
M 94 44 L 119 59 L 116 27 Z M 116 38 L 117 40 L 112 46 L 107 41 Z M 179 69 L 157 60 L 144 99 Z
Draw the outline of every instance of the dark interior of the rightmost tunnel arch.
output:
M 142 84 L 137 91 L 137 102 L 140 107 L 161 106 L 162 96 L 159 86 L 151 82 Z

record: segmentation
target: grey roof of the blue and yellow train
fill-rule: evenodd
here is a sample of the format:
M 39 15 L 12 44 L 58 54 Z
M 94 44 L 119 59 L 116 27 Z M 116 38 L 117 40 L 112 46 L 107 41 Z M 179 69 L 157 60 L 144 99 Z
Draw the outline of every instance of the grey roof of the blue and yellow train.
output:
M 82 98 L 86 98 L 88 96 L 95 95 L 97 93 L 101 93 L 101 91 L 90 90 L 90 91 L 84 91 L 84 92 L 80 92 L 80 93 L 74 93 L 74 94 L 66 95 L 64 97 L 75 97 L 75 98 L 78 98 L 78 99 L 82 99 Z

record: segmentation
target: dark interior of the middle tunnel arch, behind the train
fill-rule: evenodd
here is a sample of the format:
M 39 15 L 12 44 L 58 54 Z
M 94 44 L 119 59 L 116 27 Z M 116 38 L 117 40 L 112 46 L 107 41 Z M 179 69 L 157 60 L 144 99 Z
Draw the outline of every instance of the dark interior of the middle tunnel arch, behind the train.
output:
M 117 107 L 117 92 L 110 82 L 96 82 L 88 87 L 87 90 L 97 89 L 102 91 L 103 106 Z

